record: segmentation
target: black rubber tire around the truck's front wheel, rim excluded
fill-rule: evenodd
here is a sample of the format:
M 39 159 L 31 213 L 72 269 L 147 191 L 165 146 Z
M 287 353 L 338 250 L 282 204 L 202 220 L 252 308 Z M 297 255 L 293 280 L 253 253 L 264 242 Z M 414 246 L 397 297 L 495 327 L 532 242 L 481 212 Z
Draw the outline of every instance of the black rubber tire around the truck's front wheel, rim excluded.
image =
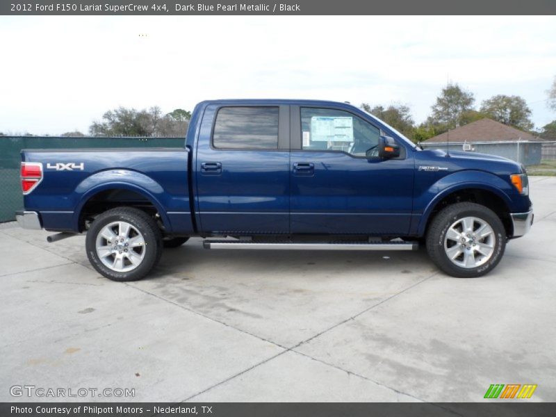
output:
M 482 220 L 482 222 L 486 222 L 493 230 L 495 238 L 495 241 L 491 244 L 493 252 L 490 257 L 484 256 L 484 258 L 481 258 L 480 255 L 478 259 L 479 262 L 482 261 L 482 259 L 487 260 L 474 268 L 464 268 L 456 265 L 454 261 L 450 261 L 444 246 L 448 229 L 450 229 L 452 224 L 455 224 L 455 222 L 463 218 L 477 218 Z M 482 277 L 493 270 L 493 268 L 498 265 L 498 262 L 500 262 L 500 259 L 502 259 L 506 247 L 506 240 L 504 224 L 502 224 L 498 215 L 490 208 L 475 203 L 457 203 L 443 208 L 430 223 L 429 229 L 427 230 L 427 252 L 436 266 L 452 277 Z M 462 245 L 464 245 L 463 242 Z M 465 248 L 461 251 L 464 250 Z M 460 256 L 464 256 L 464 253 L 461 253 Z M 475 256 L 471 259 L 475 259 Z

